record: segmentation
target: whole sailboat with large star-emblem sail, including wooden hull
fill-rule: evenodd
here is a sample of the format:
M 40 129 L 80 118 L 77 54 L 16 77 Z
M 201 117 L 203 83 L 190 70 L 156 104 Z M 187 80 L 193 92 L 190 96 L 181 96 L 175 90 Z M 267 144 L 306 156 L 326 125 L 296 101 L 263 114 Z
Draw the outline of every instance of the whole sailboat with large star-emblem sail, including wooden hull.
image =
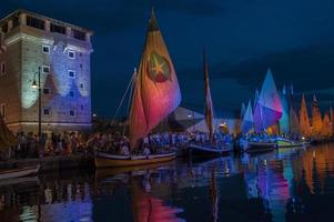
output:
M 133 154 L 140 141 L 181 102 L 176 73 L 152 9 L 139 71 L 134 80 L 129 118 L 131 154 L 95 152 L 95 167 L 130 167 L 170 161 L 173 151 Z

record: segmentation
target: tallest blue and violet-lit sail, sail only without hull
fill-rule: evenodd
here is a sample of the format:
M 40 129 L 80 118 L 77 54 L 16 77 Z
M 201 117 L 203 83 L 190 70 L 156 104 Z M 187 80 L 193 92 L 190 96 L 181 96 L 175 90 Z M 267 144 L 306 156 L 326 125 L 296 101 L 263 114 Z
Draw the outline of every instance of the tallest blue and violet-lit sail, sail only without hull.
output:
M 282 102 L 269 69 L 254 111 L 255 131 L 265 131 L 282 117 Z

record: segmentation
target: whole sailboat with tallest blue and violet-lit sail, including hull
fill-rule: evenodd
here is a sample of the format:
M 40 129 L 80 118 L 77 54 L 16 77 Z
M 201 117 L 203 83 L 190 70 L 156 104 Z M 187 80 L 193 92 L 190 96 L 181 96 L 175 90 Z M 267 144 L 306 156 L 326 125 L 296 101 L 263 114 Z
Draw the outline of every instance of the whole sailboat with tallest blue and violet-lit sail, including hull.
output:
M 250 140 L 246 151 L 261 152 L 274 150 L 276 148 L 276 141 L 269 138 L 265 132 L 267 128 L 276 124 L 281 117 L 281 98 L 279 95 L 273 74 L 269 69 L 254 110 L 255 132 L 261 137 Z

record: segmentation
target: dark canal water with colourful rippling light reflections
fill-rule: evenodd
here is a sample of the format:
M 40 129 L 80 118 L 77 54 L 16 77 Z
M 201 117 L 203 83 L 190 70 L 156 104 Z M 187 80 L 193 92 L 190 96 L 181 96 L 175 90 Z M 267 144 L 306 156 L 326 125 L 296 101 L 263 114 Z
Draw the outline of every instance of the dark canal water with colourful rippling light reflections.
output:
M 0 181 L 0 221 L 333 221 L 334 145 Z

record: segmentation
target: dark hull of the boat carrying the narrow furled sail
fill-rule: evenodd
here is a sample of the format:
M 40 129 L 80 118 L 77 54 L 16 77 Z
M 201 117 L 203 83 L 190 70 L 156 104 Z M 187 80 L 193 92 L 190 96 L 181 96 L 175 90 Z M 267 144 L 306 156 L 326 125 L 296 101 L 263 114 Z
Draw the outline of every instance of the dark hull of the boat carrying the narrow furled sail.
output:
M 229 154 L 232 149 L 230 147 L 219 148 L 213 145 L 199 145 L 199 144 L 190 144 L 190 152 L 192 155 L 223 155 Z

